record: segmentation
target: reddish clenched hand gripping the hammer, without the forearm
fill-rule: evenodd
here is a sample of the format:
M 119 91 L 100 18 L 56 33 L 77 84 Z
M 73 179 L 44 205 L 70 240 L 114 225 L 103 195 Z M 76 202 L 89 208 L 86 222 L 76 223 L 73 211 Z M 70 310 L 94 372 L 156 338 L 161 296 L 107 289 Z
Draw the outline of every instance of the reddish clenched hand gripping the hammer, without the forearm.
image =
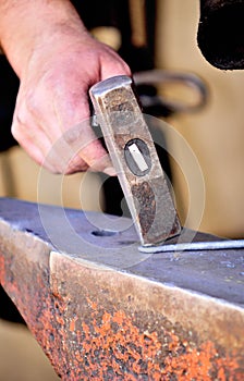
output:
M 39 36 L 36 34 L 22 65 L 14 60 L 20 90 L 12 134 L 37 163 L 51 172 L 90 169 L 114 174 L 107 151 L 90 127 L 88 89 L 110 76 L 130 75 L 130 69 L 72 16 L 71 26 L 49 25 Z

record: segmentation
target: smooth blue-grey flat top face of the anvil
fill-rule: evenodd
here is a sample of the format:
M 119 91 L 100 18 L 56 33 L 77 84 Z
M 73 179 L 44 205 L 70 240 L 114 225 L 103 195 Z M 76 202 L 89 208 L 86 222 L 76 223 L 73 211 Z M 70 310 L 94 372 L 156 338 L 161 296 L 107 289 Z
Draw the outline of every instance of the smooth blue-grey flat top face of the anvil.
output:
M 130 219 L 0 198 L 0 221 L 40 237 L 71 257 L 114 267 L 152 281 L 244 305 L 244 249 L 147 254 Z M 184 239 L 219 242 L 185 230 Z M 166 242 L 175 244 L 179 237 Z

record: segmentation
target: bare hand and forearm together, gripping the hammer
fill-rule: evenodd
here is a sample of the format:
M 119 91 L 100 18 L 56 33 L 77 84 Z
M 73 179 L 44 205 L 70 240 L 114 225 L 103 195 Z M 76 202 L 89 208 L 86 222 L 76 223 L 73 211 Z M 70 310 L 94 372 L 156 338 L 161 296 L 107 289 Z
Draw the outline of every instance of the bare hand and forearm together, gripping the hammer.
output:
M 113 175 L 89 125 L 88 89 L 110 76 L 131 75 L 126 63 L 89 35 L 68 0 L 0 0 L 0 15 L 1 47 L 20 77 L 15 139 L 51 172 Z M 74 152 L 77 125 L 80 148 L 63 163 Z

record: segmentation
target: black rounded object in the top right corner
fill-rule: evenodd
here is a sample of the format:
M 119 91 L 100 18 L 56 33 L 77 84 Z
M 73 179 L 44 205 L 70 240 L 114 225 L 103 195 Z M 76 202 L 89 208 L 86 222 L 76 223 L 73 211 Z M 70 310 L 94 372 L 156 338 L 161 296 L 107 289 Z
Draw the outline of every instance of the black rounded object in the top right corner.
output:
M 221 70 L 244 69 L 244 0 L 200 0 L 197 41 Z

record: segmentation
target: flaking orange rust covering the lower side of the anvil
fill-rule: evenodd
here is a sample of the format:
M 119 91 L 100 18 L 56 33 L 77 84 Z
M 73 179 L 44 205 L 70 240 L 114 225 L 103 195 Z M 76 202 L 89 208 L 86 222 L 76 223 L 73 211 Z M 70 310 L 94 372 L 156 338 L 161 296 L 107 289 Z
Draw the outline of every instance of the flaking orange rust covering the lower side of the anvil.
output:
M 0 258 L 0 274 L 2 266 Z M 143 329 L 148 316 L 138 327 L 133 312 L 117 310 L 114 305 L 110 308 L 109 304 L 106 308 L 89 298 L 83 299 L 84 315 L 76 315 L 75 306 L 69 310 L 69 298 L 45 294 L 41 278 L 38 282 L 32 294 L 27 283 L 20 290 L 13 281 L 8 290 L 19 295 L 19 307 L 24 312 L 27 304 L 24 295 L 32 296 L 28 302 L 32 311 L 36 308 L 36 320 L 29 314 L 26 321 L 62 380 L 243 380 L 237 362 L 241 359 L 233 353 L 220 355 L 212 342 L 196 347 L 194 341 L 181 337 L 181 332 L 167 329 L 163 320 L 157 331 Z

